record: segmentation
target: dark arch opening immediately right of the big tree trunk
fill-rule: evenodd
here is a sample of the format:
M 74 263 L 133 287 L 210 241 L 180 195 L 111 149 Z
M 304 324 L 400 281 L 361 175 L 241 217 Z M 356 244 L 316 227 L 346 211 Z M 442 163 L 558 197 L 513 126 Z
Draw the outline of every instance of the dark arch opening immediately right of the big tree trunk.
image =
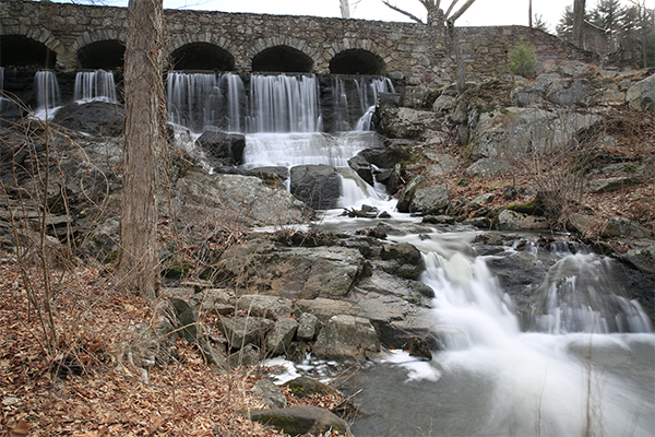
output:
M 190 43 L 170 54 L 174 70 L 234 71 L 235 57 L 211 43 Z

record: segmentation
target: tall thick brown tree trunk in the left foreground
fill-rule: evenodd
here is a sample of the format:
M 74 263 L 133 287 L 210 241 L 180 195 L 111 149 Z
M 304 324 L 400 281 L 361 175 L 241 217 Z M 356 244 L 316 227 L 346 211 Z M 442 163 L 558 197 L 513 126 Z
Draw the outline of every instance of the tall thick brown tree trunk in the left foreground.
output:
M 126 129 L 117 273 L 129 291 L 154 297 L 157 165 L 164 139 L 163 0 L 130 0 L 126 42 Z

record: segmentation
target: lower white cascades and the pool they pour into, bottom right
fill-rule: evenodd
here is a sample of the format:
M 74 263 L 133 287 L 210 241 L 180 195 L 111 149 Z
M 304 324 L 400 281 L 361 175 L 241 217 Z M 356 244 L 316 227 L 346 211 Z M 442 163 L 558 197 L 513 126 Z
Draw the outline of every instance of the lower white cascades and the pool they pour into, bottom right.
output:
M 445 350 L 431 362 L 397 353 L 365 370 L 355 383 L 374 418 L 355 423 L 354 435 L 651 436 L 655 336 L 639 306 L 615 293 L 609 260 L 556 252 L 538 287 L 539 332 L 521 332 L 485 258 L 472 255 L 472 238 L 394 238 L 425 256 L 422 282 L 434 290 L 433 330 Z

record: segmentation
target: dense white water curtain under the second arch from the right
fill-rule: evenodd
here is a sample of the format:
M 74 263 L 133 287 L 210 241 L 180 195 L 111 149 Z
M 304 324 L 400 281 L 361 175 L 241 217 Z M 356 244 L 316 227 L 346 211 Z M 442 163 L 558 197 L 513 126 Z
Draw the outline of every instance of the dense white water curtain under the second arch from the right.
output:
M 322 130 L 319 84 L 313 75 L 253 74 L 249 105 L 249 133 Z

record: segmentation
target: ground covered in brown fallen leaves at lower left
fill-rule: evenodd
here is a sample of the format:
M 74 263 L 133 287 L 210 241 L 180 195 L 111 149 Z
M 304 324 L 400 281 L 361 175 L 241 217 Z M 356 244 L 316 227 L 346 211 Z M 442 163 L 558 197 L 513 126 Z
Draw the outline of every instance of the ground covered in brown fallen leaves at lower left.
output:
M 156 303 L 117 291 L 103 269 L 52 271 L 49 302 L 57 341 L 48 352 L 43 275 L 35 267 L 26 272 L 37 307 L 28 303 L 21 265 L 2 255 L 0 436 L 284 435 L 245 414 L 266 409 L 252 393 L 265 368 L 226 373 L 181 339 L 169 363 L 147 373 L 131 365 L 126 351 L 139 342 L 134 327 L 157 323 Z M 341 402 L 334 395 L 299 399 L 283 391 L 288 406 L 331 409 Z

